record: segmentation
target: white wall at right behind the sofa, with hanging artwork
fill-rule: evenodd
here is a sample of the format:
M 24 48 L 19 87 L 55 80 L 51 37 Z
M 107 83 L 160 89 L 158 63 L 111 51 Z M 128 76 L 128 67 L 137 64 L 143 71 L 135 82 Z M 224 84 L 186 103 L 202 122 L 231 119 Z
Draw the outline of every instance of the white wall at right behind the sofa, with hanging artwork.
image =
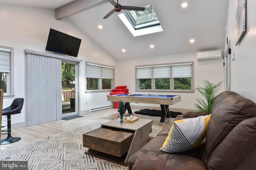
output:
M 246 0 L 246 33 L 239 45 L 236 44 L 236 1 L 228 1 L 226 37 L 230 39 L 231 52 L 231 90 L 256 102 L 256 1 Z M 225 38 L 226 38 L 225 37 Z

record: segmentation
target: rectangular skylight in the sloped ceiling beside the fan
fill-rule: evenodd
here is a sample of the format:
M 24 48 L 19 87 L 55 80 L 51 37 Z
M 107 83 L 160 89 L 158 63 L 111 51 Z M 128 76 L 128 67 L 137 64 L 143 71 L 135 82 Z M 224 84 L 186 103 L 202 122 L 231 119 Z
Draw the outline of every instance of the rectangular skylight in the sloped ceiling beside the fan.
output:
M 128 11 L 118 16 L 134 37 L 163 31 L 152 5 L 145 6 L 144 11 Z

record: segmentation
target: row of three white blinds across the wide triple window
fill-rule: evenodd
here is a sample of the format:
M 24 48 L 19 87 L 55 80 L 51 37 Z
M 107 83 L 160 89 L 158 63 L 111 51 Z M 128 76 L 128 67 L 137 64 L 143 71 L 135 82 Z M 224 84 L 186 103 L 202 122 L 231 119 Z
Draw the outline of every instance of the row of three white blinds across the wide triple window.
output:
M 192 63 L 136 67 L 136 78 L 192 77 Z

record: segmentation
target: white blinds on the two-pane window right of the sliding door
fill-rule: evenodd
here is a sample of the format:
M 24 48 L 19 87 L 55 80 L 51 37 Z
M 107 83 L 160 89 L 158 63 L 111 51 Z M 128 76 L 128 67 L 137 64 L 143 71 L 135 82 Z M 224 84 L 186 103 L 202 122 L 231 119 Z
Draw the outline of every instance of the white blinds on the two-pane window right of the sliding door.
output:
M 114 68 L 98 64 L 86 64 L 86 76 L 90 78 L 114 78 Z

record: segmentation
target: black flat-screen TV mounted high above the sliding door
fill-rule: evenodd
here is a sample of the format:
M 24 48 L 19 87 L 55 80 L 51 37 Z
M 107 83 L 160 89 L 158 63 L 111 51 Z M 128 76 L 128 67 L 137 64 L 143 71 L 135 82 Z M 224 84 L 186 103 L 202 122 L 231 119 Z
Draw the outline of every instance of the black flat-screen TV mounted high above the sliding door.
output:
M 50 28 L 45 50 L 77 57 L 80 43 L 81 39 Z

